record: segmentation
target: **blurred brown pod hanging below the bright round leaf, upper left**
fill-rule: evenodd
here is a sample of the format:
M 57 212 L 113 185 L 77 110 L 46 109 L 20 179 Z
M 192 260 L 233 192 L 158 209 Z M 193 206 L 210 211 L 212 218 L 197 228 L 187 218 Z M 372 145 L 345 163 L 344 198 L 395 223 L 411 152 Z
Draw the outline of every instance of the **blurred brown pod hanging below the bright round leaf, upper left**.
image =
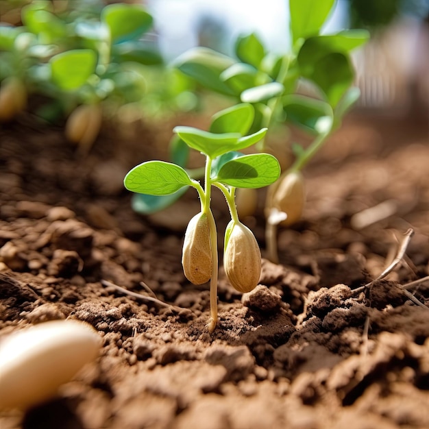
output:
M 82 104 L 77 106 L 66 123 L 66 138 L 79 145 L 84 153 L 93 146 L 97 138 L 103 115 L 99 104 Z

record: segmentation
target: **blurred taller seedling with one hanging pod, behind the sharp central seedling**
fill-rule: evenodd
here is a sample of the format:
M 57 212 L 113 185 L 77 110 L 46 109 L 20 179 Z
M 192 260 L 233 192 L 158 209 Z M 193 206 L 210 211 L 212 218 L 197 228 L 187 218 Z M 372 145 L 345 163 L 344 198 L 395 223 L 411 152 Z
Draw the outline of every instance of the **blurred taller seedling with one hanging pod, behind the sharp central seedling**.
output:
M 368 40 L 369 33 L 354 29 L 321 34 L 335 3 L 289 0 L 291 51 L 287 53 L 269 51 L 252 33 L 237 38 L 233 57 L 197 47 L 175 60 L 175 66 L 203 88 L 230 97 L 234 103 L 251 103 L 255 110 L 251 130 L 295 125 L 312 138 L 306 147 L 291 145 L 295 161 L 285 168 L 281 183 L 273 184 L 268 193 L 268 257 L 275 262 L 277 225 L 296 222 L 304 207 L 300 171 L 341 126 L 345 113 L 360 95 L 358 88 L 351 87 L 354 68 L 350 53 Z M 260 140 L 257 149 L 268 150 L 266 138 Z

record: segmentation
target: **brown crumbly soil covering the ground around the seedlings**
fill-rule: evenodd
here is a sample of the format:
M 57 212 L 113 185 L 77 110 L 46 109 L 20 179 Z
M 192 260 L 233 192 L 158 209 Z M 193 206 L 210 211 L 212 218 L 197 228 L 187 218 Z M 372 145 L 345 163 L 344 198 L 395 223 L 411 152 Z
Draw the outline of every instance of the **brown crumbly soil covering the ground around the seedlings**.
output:
M 427 117 L 350 115 L 306 168 L 306 209 L 279 231 L 280 264 L 263 259 L 245 295 L 220 270 L 211 335 L 208 284 L 180 264 L 197 198 L 143 217 L 123 189 L 130 167 L 165 157 L 169 130 L 106 124 L 79 157 L 60 127 L 23 116 L 1 128 L 0 335 L 80 319 L 103 337 L 58 397 L 4 412 L 1 428 L 429 428 L 429 282 L 404 291 L 429 275 Z M 244 219 L 262 256 L 263 194 Z M 213 199 L 222 234 L 228 214 Z M 362 287 L 409 228 L 401 262 Z M 171 306 L 147 301 L 143 282 Z

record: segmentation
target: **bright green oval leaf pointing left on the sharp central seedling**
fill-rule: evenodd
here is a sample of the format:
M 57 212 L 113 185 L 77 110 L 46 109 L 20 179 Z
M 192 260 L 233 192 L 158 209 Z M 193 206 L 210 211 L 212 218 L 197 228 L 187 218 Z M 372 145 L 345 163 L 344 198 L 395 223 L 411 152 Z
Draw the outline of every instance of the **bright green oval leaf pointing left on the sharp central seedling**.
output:
M 148 195 L 169 195 L 180 188 L 192 185 L 188 173 L 176 164 L 164 161 L 147 161 L 128 171 L 124 179 L 128 191 Z

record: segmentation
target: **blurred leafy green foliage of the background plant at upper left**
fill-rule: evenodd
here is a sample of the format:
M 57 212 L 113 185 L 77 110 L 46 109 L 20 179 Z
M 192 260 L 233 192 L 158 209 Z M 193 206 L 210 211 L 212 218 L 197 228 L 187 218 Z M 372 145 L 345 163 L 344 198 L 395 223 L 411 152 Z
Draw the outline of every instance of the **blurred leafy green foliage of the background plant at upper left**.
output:
M 140 106 L 147 71 L 163 70 L 143 5 L 27 3 L 20 23 L 0 25 L 0 81 L 13 76 L 27 93 L 42 95 L 36 115 L 55 122 L 79 105 L 103 103 L 103 112 L 112 104 Z

